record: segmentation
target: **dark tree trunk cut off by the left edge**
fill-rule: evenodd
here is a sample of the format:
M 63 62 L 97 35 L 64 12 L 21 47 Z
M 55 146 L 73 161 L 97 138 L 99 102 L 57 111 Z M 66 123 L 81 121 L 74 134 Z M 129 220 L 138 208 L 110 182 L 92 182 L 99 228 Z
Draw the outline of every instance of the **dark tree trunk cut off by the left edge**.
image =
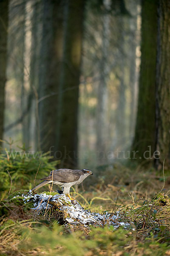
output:
M 3 139 L 7 65 L 8 0 L 0 0 L 0 140 Z M 0 145 L 2 143 L 0 142 Z

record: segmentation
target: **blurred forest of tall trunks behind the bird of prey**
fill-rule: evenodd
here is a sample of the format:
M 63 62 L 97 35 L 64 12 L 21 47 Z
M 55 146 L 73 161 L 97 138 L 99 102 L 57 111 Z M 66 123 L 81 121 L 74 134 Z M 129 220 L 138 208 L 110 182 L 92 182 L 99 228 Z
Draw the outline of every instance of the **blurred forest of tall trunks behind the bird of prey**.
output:
M 60 167 L 94 208 L 168 194 L 170 2 L 0 0 L 0 146 L 1 198 Z

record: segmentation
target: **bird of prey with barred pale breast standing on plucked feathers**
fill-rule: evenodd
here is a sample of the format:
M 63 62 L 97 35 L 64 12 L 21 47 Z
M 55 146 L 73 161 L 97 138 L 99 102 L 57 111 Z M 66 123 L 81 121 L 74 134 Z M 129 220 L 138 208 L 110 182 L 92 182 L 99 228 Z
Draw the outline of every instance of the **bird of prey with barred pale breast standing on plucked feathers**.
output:
M 70 188 L 73 185 L 78 185 L 82 183 L 82 181 L 88 177 L 89 175 L 93 174 L 88 169 L 82 169 L 82 170 L 72 170 L 72 169 L 58 169 L 53 170 L 50 172 L 50 175 L 48 177 L 42 178 L 43 180 L 39 185 L 35 186 L 33 190 L 38 189 L 45 184 L 53 183 L 55 185 L 59 185 L 62 187 L 62 193 L 67 195 L 71 200 L 70 196 Z

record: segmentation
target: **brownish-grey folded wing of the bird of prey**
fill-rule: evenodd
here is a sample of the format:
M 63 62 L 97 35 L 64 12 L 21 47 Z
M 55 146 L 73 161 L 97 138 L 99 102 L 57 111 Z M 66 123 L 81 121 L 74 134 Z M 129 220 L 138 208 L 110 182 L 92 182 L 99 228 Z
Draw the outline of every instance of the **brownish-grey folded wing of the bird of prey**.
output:
M 72 169 L 58 169 L 51 171 L 48 177 L 42 178 L 41 180 L 54 180 L 59 182 L 73 182 L 79 180 L 80 173 L 79 170 Z

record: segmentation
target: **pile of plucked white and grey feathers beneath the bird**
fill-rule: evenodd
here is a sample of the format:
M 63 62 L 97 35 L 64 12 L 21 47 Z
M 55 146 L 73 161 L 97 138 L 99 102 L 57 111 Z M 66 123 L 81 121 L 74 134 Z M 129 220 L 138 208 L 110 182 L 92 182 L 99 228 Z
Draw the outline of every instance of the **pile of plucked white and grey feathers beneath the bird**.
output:
M 44 209 L 49 209 L 53 207 L 49 204 L 49 201 L 56 202 L 59 204 L 60 210 L 65 210 L 68 213 L 68 217 L 65 218 L 67 223 L 74 225 L 99 225 L 104 226 L 105 224 L 118 228 L 123 226 L 125 229 L 130 226 L 129 223 L 122 222 L 119 220 L 119 212 L 116 215 L 105 212 L 100 214 L 99 212 L 91 212 L 90 210 L 85 210 L 76 201 L 76 204 L 72 204 L 71 200 L 65 195 L 46 195 L 46 193 L 33 194 L 30 190 L 28 195 L 22 195 L 23 201 L 26 203 L 30 200 L 34 202 L 34 209 L 38 214 Z M 69 205 L 67 205 L 69 204 Z

